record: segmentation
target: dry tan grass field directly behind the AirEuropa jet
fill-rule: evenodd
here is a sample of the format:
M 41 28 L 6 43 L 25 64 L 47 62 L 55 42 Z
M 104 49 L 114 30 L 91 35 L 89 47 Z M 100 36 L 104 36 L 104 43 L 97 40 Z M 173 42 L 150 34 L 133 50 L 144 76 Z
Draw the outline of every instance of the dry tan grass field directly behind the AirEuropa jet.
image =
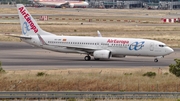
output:
M 147 38 L 159 40 L 171 47 L 179 47 L 180 36 L 177 26 L 158 27 L 158 26 L 126 26 L 122 24 L 84 24 L 80 23 L 40 23 L 40 27 L 48 32 L 57 35 L 70 36 L 97 36 L 97 30 L 100 30 L 103 37 L 119 37 L 119 38 Z M 0 27 L 0 33 L 20 34 L 20 25 L 5 24 Z M 0 41 L 20 41 L 18 38 L 12 38 L 1 35 Z

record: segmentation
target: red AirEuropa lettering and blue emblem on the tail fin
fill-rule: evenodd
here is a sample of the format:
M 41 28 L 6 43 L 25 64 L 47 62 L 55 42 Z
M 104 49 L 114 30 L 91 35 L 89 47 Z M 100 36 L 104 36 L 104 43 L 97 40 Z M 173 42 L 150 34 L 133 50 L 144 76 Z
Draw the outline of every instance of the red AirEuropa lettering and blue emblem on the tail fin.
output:
M 19 11 L 20 13 L 22 14 L 22 16 L 24 17 L 24 19 L 26 20 L 26 22 L 24 22 L 23 24 L 23 29 L 26 28 L 26 33 L 27 31 L 30 31 L 29 30 L 29 26 L 31 27 L 30 29 L 34 30 L 34 33 L 37 33 L 38 32 L 38 29 L 37 27 L 34 25 L 34 22 L 31 20 L 31 17 L 30 15 L 27 13 L 26 9 L 24 9 L 24 6 L 23 7 L 20 7 L 19 8 Z M 25 25 L 25 26 L 24 26 Z M 24 33 L 25 31 L 23 30 L 23 34 L 26 34 Z

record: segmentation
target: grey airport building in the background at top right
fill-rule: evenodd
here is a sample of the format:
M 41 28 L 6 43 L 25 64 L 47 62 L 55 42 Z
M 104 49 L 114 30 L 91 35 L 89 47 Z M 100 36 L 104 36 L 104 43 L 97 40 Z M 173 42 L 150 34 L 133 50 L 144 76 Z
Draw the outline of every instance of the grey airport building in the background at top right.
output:
M 118 9 L 180 9 L 180 0 L 88 0 L 89 7 Z

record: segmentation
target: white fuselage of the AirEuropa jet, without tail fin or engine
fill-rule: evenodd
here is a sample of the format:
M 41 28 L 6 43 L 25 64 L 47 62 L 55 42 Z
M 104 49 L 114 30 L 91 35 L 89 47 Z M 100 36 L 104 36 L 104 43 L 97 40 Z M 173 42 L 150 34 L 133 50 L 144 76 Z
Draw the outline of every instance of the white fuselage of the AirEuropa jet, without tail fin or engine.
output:
M 87 54 L 95 50 L 109 50 L 112 55 L 158 57 L 173 52 L 173 49 L 164 43 L 148 39 L 41 35 L 46 43 L 43 45 L 37 35 L 31 37 L 32 39 L 23 39 L 23 41 L 44 49 L 65 53 Z

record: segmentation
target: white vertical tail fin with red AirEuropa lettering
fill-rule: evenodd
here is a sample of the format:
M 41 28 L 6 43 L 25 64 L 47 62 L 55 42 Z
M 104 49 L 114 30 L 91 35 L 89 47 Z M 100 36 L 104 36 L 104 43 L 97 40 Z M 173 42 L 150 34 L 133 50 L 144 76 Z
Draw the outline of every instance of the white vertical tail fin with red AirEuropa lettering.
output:
M 24 5 L 17 4 L 17 10 L 23 35 L 29 36 L 37 35 L 37 33 L 42 34 L 42 29 L 39 27 Z

